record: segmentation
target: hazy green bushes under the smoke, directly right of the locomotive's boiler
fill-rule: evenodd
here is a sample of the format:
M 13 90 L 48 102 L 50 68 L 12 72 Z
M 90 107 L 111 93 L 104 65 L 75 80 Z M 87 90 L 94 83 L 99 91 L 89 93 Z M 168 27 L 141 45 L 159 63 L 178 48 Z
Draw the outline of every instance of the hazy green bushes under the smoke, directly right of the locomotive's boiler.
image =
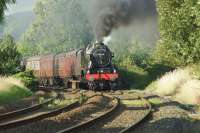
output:
M 138 66 L 146 67 L 150 60 L 152 49 L 142 46 L 137 42 L 114 42 L 110 44 L 115 51 L 115 62 L 122 67 Z M 120 48 L 119 48 L 120 47 Z

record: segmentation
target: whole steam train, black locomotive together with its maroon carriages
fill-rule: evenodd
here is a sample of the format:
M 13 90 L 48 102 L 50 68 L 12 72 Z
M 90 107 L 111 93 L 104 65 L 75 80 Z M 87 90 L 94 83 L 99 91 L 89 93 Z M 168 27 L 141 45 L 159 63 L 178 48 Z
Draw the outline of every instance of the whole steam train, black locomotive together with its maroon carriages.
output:
M 26 69 L 33 70 L 40 85 L 66 85 L 70 81 L 87 84 L 92 90 L 116 89 L 118 71 L 112 63 L 114 57 L 104 43 L 57 55 L 36 56 L 25 59 Z

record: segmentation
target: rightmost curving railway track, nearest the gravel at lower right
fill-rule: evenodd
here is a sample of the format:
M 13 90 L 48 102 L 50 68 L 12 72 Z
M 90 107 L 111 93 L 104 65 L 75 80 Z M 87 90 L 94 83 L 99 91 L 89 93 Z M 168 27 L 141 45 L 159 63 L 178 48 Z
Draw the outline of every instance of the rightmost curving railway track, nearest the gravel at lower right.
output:
M 121 95 L 121 93 L 119 93 Z M 110 109 L 108 112 L 106 112 L 103 115 L 100 115 L 99 117 L 89 120 L 87 122 L 81 123 L 77 126 L 73 126 L 70 127 L 68 129 L 64 129 L 62 131 L 59 131 L 57 133 L 127 133 L 129 131 L 134 130 L 134 128 L 136 128 L 139 124 L 141 124 L 144 120 L 146 120 L 148 118 L 148 116 L 151 114 L 152 111 L 152 106 L 151 104 L 144 99 L 141 96 L 137 96 L 138 98 L 133 98 L 133 99 L 120 99 L 117 98 L 118 104 L 116 106 L 114 106 L 112 109 Z M 143 111 L 142 112 L 142 116 L 140 116 L 137 119 L 133 119 L 134 121 L 131 121 L 129 123 L 124 123 L 124 127 L 123 128 L 116 128 L 116 129 L 112 129 L 109 130 L 107 129 L 107 127 L 109 127 L 110 123 L 114 123 L 113 121 L 115 121 L 116 119 L 116 123 L 120 123 L 120 119 L 117 118 L 119 117 L 121 114 L 123 114 L 123 112 L 126 111 L 126 107 L 124 107 L 123 103 L 120 103 L 120 101 L 122 102 L 123 100 L 129 100 L 129 101 L 135 101 L 135 100 L 140 100 L 144 103 L 144 107 L 135 107 L 136 112 L 137 111 Z M 134 108 L 134 107 L 130 107 L 130 108 Z M 144 111 L 145 110 L 145 111 Z M 133 112 L 134 110 L 130 110 L 130 112 Z M 137 115 L 135 113 L 135 115 Z M 127 116 L 129 117 L 129 116 Z M 130 116 L 131 117 L 131 116 Z M 112 122 L 111 122 L 112 121 Z M 105 126 L 106 124 L 108 124 L 107 126 Z

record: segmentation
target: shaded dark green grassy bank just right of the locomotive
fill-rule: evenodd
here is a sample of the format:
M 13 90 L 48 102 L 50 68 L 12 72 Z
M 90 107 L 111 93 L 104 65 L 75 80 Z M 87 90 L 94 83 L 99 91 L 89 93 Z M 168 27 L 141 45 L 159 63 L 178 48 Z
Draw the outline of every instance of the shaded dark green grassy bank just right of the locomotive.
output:
M 131 65 L 121 67 L 120 76 L 126 88 L 144 90 L 151 82 L 173 69 L 161 64 L 154 64 L 146 68 Z

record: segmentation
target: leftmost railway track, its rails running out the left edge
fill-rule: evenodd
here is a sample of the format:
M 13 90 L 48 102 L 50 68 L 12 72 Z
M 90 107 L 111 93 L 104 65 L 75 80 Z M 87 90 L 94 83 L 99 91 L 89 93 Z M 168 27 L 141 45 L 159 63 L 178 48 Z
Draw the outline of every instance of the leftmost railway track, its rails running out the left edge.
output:
M 52 90 L 45 90 L 45 92 L 54 92 Z M 58 99 L 58 93 L 54 93 L 52 98 L 46 100 L 41 104 L 37 104 L 31 107 L 20 109 L 13 112 L 8 112 L 0 115 L 0 132 L 3 130 L 19 127 L 28 123 L 36 122 L 47 117 L 55 116 L 63 111 L 69 111 L 79 106 L 79 101 L 73 102 L 65 107 L 56 109 L 46 109 L 46 105 L 52 103 Z

